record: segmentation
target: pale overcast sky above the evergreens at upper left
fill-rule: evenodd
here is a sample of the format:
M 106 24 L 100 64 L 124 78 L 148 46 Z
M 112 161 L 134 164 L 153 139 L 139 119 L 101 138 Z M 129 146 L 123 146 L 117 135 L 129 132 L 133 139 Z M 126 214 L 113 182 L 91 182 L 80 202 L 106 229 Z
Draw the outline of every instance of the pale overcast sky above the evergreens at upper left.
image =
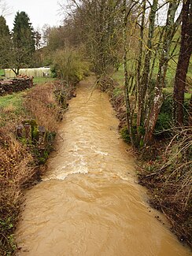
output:
M 13 20 L 17 11 L 28 13 L 34 28 L 42 28 L 44 24 L 49 24 L 51 27 L 61 24 L 58 0 L 6 0 L 5 2 L 11 7 L 12 13 L 6 16 L 9 29 L 13 29 Z

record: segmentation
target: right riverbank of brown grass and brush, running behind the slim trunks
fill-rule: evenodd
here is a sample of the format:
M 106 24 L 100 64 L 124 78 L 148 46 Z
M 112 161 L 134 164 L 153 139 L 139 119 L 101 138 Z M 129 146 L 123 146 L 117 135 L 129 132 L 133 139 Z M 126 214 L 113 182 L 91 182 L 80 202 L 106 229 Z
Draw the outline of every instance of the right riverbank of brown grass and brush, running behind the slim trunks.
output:
M 104 91 L 109 92 L 116 117 L 120 120 L 120 134 L 130 143 L 127 136 L 124 88 L 111 80 Z M 172 109 L 172 103 L 166 102 L 163 107 L 168 112 L 168 109 Z M 192 128 L 168 128 L 165 137 L 162 133 L 157 135 L 153 145 L 135 152 L 138 156 L 138 181 L 148 188 L 150 205 L 164 213 L 172 232 L 181 243 L 191 248 Z

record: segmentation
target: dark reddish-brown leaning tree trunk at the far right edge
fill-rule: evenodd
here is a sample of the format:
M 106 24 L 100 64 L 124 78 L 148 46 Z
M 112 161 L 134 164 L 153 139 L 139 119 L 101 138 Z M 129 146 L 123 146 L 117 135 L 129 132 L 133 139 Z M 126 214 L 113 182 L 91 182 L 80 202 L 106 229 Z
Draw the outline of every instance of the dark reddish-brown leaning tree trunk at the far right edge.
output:
M 173 93 L 173 119 L 176 125 L 183 125 L 183 103 L 186 87 L 186 74 L 192 52 L 192 0 L 183 0 L 183 19 L 181 27 L 181 46 L 175 73 Z

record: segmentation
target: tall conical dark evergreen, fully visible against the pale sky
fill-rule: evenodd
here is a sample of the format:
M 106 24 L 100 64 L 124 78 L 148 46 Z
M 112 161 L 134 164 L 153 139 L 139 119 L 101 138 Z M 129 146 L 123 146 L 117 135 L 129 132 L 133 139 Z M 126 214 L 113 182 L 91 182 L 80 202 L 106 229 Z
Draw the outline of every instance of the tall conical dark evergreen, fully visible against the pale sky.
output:
M 20 68 L 31 65 L 35 53 L 35 35 L 28 14 L 17 12 L 13 23 L 12 69 L 19 74 Z

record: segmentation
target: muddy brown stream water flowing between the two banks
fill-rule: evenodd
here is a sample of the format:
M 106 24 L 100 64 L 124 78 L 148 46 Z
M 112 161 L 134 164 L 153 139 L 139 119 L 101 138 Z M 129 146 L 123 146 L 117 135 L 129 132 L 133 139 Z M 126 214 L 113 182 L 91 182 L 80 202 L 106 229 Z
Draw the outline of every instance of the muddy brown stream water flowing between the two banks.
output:
M 109 98 L 93 85 L 80 83 L 48 171 L 26 191 L 17 255 L 191 255 L 147 205 Z

